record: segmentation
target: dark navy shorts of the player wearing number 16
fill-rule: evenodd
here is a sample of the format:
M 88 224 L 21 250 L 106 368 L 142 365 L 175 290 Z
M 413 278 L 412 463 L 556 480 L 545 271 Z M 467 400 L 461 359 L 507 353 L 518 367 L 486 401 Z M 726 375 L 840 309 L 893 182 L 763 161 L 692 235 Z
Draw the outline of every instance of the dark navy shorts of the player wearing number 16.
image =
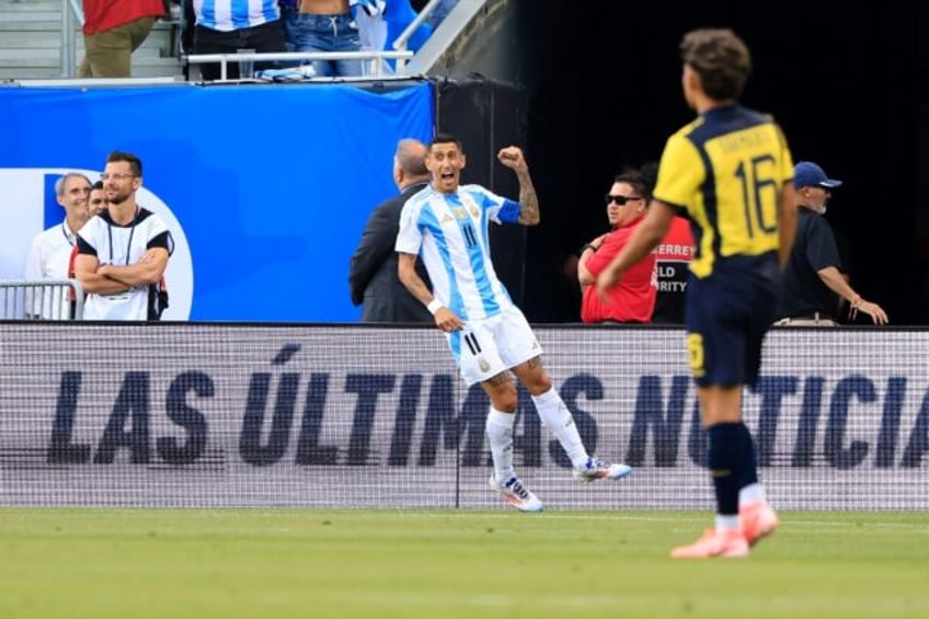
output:
M 687 353 L 700 387 L 754 386 L 775 320 L 777 264 L 765 273 L 714 272 L 687 284 Z

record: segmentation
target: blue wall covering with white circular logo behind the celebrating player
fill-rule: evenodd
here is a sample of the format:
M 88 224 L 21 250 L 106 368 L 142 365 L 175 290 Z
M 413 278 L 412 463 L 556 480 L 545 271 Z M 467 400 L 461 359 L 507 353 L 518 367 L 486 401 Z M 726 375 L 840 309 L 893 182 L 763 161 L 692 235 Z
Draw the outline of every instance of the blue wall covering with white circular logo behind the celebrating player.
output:
M 464 181 L 515 195 L 491 156 L 519 138 L 514 93 L 483 80 L 0 88 L 0 279 L 22 278 L 32 237 L 61 221 L 60 174 L 95 180 L 125 150 L 145 165 L 139 203 L 176 242 L 165 320 L 354 322 L 348 260 L 397 192 L 397 141 L 455 131 Z M 523 237 L 502 233 L 518 299 Z

